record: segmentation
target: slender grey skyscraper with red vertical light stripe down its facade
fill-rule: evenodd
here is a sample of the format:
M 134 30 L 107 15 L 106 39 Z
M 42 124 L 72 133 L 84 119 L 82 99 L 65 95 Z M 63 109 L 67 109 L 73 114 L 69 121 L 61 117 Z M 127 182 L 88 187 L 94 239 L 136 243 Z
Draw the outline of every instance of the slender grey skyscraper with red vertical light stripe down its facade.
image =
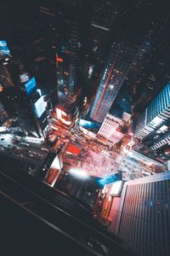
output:
M 132 47 L 126 44 L 112 44 L 105 70 L 94 98 L 90 117 L 102 123 L 109 112 L 124 79 L 126 79 L 133 57 Z

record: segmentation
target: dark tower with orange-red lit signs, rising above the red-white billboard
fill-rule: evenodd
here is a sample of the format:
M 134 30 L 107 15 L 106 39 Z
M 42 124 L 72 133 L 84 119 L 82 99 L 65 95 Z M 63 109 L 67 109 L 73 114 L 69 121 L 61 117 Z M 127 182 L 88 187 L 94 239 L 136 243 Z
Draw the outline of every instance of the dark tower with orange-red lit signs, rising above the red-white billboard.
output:
M 65 108 L 77 101 L 82 86 L 82 60 L 86 37 L 87 8 L 83 1 L 56 2 L 56 66 L 59 104 Z M 87 15 L 88 16 L 88 15 Z M 87 38 L 87 37 L 86 37 Z

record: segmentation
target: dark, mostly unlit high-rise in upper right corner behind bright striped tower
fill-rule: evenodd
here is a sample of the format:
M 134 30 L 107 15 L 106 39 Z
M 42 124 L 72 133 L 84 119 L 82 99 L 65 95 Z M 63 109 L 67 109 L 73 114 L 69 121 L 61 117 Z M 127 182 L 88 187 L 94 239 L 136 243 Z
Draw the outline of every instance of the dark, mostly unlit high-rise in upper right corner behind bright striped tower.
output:
M 154 6 L 157 5 L 157 8 Z M 144 110 L 164 84 L 169 81 L 169 44 L 168 31 L 170 17 L 168 3 L 155 1 L 150 9 L 150 29 L 146 33 L 141 51 L 133 61 L 133 112 Z M 155 9 L 155 10 L 154 10 Z M 148 24 L 149 26 L 149 24 Z M 148 54 L 147 54 L 148 53 Z M 140 59 L 143 58 L 141 62 Z M 141 65 L 142 64 L 142 65 Z M 135 74 L 136 73 L 136 74 Z

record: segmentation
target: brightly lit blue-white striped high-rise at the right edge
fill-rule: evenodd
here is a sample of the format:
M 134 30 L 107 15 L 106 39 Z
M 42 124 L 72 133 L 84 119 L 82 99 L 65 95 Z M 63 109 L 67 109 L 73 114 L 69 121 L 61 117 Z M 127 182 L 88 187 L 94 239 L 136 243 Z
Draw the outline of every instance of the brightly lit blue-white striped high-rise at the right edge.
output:
M 150 157 L 168 160 L 170 155 L 170 83 L 139 115 L 135 137 L 141 140 L 139 150 Z

